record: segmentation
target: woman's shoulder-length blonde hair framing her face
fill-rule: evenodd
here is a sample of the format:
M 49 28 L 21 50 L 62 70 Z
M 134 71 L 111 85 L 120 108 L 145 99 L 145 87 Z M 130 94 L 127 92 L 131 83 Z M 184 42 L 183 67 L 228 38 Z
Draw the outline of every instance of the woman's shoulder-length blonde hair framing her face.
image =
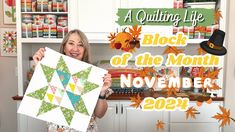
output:
M 68 42 L 70 35 L 74 34 L 74 33 L 76 33 L 77 35 L 80 36 L 82 44 L 84 46 L 84 54 L 82 57 L 82 61 L 90 63 L 90 44 L 88 42 L 86 35 L 78 29 L 71 30 L 67 33 L 67 35 L 64 37 L 62 44 L 60 46 L 60 53 L 65 55 L 64 47 L 65 47 L 66 43 Z

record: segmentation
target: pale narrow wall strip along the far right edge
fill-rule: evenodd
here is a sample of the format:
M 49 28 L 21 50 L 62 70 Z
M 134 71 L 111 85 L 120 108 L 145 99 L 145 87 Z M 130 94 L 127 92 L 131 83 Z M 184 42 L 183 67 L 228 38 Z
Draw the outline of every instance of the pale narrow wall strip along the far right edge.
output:
M 231 117 L 235 118 L 235 1 L 230 0 L 228 8 L 228 26 L 227 26 L 227 64 L 226 64 L 226 83 L 225 83 L 225 107 L 230 109 Z M 230 126 L 225 127 L 224 132 L 234 132 L 235 122 L 231 122 Z

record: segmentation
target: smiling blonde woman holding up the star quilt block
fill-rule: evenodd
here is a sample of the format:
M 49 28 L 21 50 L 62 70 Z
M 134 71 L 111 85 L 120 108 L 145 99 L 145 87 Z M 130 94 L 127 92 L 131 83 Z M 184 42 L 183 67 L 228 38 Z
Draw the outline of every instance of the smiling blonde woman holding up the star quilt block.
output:
M 60 52 L 64 55 L 70 56 L 72 58 L 90 63 L 90 45 L 88 43 L 88 39 L 83 32 L 80 30 L 71 30 L 63 39 Z M 33 56 L 34 62 L 37 64 L 44 57 L 44 48 L 40 48 Z M 101 89 L 99 99 L 97 101 L 94 114 L 91 118 L 89 127 L 87 132 L 96 132 L 97 125 L 95 122 L 95 117 L 102 118 L 108 108 L 107 102 L 105 98 L 111 94 L 111 90 L 109 87 L 111 86 L 111 75 L 106 74 L 103 78 L 104 85 Z M 52 123 L 49 124 L 49 128 L 53 125 Z M 58 126 L 56 126 L 58 128 Z M 56 128 L 56 129 L 57 129 Z M 59 128 L 62 129 L 62 128 Z M 60 131 L 57 129 L 56 131 Z M 69 128 L 65 128 L 69 129 Z

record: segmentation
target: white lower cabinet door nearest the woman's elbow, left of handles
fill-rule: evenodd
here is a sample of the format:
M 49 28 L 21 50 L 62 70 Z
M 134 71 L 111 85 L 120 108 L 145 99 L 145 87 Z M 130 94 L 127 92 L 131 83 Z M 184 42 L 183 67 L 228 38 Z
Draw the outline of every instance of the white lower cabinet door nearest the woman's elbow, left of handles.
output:
M 119 102 L 108 102 L 108 110 L 101 119 L 96 119 L 99 132 L 119 132 Z

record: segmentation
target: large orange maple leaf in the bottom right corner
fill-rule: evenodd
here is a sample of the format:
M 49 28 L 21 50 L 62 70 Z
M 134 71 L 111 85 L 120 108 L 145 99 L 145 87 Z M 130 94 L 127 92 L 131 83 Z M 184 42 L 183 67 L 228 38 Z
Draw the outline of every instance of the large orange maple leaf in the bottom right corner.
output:
M 230 125 L 230 119 L 235 122 L 235 119 L 230 117 L 230 110 L 227 111 L 226 108 L 222 106 L 219 106 L 219 108 L 222 113 L 217 113 L 212 118 L 215 118 L 218 122 L 222 121 L 220 127 L 226 126 L 227 124 Z

